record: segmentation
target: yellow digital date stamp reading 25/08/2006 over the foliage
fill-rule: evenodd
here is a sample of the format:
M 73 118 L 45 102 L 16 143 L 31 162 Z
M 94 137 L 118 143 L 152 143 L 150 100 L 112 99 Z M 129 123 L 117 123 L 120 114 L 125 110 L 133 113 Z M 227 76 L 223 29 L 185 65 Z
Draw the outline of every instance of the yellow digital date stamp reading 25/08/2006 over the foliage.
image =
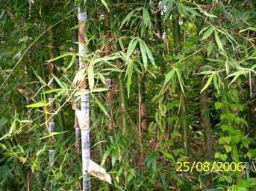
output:
M 242 172 L 250 169 L 256 172 L 256 162 L 220 162 L 220 161 L 193 161 L 177 162 L 175 168 L 178 172 Z

